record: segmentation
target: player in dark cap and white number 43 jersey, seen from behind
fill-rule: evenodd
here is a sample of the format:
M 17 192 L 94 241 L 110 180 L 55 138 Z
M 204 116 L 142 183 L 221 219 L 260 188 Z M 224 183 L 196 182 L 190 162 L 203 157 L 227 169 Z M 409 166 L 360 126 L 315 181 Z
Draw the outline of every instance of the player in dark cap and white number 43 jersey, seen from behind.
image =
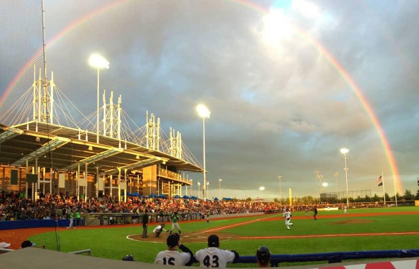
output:
M 225 268 L 227 263 L 232 263 L 239 258 L 235 251 L 220 250 L 219 239 L 216 235 L 208 237 L 208 248 L 199 250 L 195 254 L 195 259 L 200 262 L 201 267 Z

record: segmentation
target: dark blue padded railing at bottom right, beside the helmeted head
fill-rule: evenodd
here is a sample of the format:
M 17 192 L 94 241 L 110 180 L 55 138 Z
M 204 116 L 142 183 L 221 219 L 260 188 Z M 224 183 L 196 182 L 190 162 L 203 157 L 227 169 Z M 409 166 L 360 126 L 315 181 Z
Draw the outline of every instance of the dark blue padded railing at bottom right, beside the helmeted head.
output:
M 278 267 L 279 263 L 320 262 L 329 264 L 341 263 L 344 260 L 365 260 L 385 258 L 419 257 L 419 250 L 385 250 L 385 251 L 351 251 L 312 254 L 279 254 L 271 256 L 271 267 Z M 255 256 L 241 256 L 236 263 L 256 264 Z

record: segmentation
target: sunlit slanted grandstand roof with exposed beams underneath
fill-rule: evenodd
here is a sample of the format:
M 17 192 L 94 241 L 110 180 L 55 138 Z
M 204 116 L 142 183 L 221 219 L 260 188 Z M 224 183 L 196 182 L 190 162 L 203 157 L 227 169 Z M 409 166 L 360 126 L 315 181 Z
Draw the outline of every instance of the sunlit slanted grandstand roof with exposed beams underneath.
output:
M 80 138 L 80 139 L 79 139 Z M 49 150 L 53 167 L 60 170 L 80 169 L 88 164 L 88 171 L 117 173 L 119 169 L 139 169 L 153 164 L 166 164 L 179 170 L 203 172 L 198 164 L 176 158 L 167 153 L 151 150 L 142 145 L 43 122 L 27 122 L 13 127 L 0 125 L 0 163 L 11 166 L 49 167 Z

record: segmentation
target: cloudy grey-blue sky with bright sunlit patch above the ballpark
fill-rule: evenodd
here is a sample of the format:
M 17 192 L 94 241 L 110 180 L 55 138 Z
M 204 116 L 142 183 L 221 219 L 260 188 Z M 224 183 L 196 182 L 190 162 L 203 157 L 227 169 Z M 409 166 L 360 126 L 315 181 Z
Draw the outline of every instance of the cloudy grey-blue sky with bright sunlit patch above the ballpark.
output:
M 46 0 L 46 39 L 114 1 Z M 118 1 L 117 1 L 118 2 Z M 68 31 L 47 48 L 55 83 L 84 114 L 96 108 L 90 53 L 110 61 L 101 88 L 123 95 L 138 125 L 155 113 L 202 163 L 205 103 L 210 190 L 221 196 L 315 194 L 318 170 L 329 190 L 371 189 L 391 168 L 377 130 L 354 91 L 315 46 L 321 43 L 370 102 L 393 149 L 404 189 L 419 175 L 419 1 L 126 1 Z M 261 12 L 261 9 L 265 12 Z M 303 29 L 301 35 L 294 27 Z M 202 181 L 202 175 L 191 177 Z M 261 194 L 260 186 L 265 187 Z M 196 185 L 195 188 L 196 190 Z M 218 191 L 211 194 L 218 196 Z

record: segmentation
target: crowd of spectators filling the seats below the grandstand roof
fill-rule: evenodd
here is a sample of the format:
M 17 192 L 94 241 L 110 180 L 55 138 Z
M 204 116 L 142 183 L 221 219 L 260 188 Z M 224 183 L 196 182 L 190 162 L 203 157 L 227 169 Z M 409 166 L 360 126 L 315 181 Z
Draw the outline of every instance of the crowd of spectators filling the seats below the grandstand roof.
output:
M 86 202 L 71 194 L 45 194 L 33 201 L 16 192 L 0 192 L 0 220 L 66 218 L 70 210 L 81 213 L 150 213 L 193 212 L 210 215 L 253 213 L 278 210 L 274 203 L 245 201 L 203 201 L 191 199 L 128 197 L 118 203 L 116 197 L 91 198 Z

